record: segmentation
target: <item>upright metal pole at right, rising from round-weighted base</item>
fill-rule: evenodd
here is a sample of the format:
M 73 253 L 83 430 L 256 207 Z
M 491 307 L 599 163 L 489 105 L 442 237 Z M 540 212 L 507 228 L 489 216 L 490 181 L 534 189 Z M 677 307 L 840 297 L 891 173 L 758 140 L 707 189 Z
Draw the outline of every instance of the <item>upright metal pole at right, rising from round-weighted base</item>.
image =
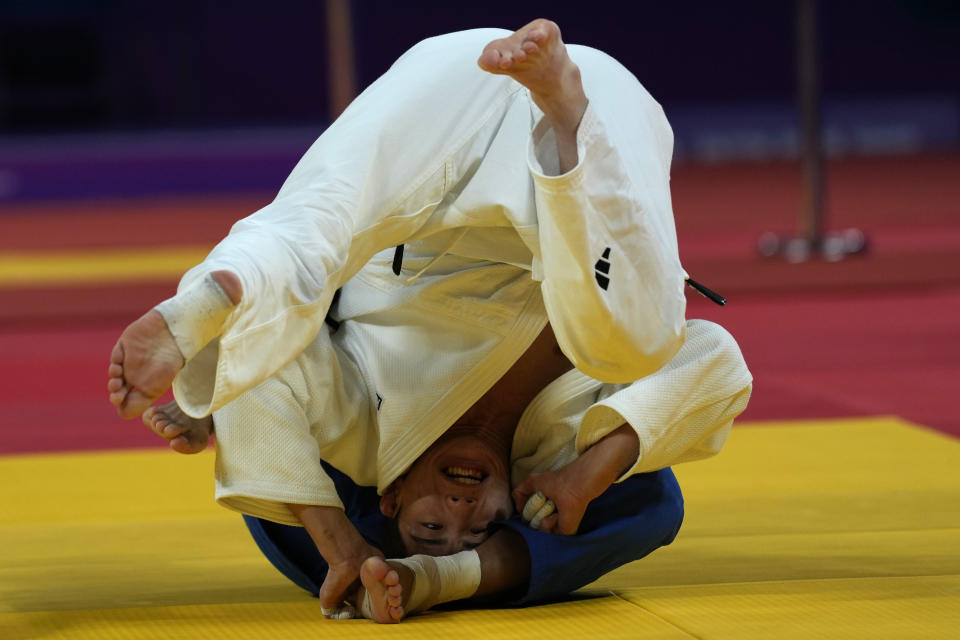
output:
M 797 96 L 800 105 L 800 164 L 803 178 L 799 235 L 811 253 L 824 235 L 824 162 L 820 117 L 817 0 L 797 0 Z

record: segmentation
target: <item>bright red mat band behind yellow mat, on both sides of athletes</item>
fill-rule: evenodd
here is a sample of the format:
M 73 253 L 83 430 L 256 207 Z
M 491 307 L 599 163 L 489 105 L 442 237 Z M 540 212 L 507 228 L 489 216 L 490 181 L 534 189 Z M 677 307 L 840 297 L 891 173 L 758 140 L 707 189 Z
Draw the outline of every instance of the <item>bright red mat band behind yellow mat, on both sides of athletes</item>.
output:
M 745 420 L 896 414 L 960 436 L 960 288 L 690 302 L 740 342 L 756 378 Z M 122 327 L 0 334 L 0 453 L 165 446 L 107 403 Z

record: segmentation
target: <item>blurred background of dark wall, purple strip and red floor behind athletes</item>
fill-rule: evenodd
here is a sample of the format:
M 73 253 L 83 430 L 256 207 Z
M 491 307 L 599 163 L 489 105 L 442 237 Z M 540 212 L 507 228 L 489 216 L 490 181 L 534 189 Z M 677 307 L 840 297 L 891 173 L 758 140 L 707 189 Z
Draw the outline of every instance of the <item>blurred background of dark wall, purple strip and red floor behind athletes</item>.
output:
M 730 299 L 689 315 L 741 342 L 746 423 L 960 435 L 960 3 L 0 0 L 0 453 L 157 444 L 106 402 L 123 326 L 404 50 L 536 17 L 663 104 L 681 257 Z

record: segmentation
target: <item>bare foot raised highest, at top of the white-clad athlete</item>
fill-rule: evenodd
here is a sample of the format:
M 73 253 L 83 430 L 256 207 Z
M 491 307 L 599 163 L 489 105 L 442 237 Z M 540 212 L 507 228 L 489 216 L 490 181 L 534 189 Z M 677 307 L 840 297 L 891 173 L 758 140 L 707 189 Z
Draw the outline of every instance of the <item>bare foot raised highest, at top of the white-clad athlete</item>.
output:
M 530 89 L 533 101 L 558 132 L 576 131 L 587 97 L 580 69 L 567 54 L 555 22 L 534 20 L 513 35 L 494 40 L 484 47 L 477 64 Z

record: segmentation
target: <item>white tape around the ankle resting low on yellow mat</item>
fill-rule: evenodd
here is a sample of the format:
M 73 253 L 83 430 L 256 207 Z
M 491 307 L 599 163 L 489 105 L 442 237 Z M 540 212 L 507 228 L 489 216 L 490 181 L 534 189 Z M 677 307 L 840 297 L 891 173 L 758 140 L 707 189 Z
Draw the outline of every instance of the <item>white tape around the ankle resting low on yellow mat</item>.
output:
M 409 558 L 390 559 L 413 572 L 410 595 L 403 605 L 405 615 L 426 611 L 444 602 L 469 598 L 480 586 L 480 556 L 473 549 L 452 556 L 417 554 Z M 360 613 L 373 619 L 366 593 L 358 604 Z

